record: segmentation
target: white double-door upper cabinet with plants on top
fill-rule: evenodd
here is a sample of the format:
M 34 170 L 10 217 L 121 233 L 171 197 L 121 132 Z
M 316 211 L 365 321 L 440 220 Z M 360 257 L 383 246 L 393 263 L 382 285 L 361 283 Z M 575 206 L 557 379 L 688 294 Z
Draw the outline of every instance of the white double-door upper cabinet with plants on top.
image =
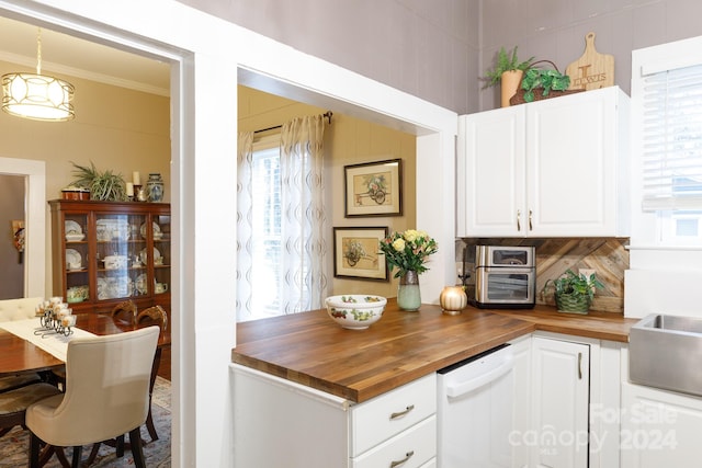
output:
M 456 236 L 627 236 L 627 168 L 618 87 L 461 116 Z

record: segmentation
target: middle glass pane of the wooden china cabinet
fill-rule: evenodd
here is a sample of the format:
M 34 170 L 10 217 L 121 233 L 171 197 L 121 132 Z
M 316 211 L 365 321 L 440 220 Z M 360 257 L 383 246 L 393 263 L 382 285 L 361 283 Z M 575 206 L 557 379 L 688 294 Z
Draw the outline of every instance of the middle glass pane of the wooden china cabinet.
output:
M 149 294 L 146 218 L 95 214 L 97 300 Z

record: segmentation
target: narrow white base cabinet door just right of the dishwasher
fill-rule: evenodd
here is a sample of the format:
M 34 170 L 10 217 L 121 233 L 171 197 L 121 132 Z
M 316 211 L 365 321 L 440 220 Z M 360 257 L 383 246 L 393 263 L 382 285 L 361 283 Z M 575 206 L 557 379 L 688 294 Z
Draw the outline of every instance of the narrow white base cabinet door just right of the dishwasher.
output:
M 532 340 L 532 467 L 588 466 L 590 345 L 534 336 Z

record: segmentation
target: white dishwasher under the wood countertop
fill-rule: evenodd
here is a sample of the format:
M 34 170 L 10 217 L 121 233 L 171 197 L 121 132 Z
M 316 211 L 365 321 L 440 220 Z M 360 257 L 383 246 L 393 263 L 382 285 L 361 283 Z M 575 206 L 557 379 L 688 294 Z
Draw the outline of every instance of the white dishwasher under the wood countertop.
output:
M 439 468 L 529 464 L 529 343 L 507 343 L 438 372 Z

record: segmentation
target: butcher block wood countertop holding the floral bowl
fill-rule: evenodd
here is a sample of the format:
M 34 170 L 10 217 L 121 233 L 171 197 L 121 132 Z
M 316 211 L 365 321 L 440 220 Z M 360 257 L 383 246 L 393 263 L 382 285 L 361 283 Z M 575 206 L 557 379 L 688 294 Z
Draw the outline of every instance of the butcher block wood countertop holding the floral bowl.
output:
M 237 323 L 231 361 L 362 402 L 536 330 L 627 342 L 635 322 L 541 306 L 449 316 L 424 304 L 404 312 L 389 299 L 383 318 L 366 330 L 343 329 L 325 309 Z

